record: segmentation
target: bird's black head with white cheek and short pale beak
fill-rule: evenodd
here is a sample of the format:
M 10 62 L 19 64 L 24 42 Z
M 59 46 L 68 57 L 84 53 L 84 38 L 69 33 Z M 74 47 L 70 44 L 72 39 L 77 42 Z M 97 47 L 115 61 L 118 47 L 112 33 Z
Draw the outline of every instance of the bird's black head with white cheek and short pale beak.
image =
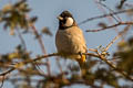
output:
M 59 16 L 59 29 L 65 30 L 68 28 L 76 25 L 72 14 L 69 11 L 63 11 Z

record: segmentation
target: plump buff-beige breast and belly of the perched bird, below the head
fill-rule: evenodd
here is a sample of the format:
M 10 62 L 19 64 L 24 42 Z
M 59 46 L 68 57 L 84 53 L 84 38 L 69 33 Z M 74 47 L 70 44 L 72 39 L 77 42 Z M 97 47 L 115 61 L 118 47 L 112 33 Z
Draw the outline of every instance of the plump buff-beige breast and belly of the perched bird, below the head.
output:
M 58 30 L 55 35 L 55 45 L 59 53 L 85 53 L 86 46 L 79 28 Z

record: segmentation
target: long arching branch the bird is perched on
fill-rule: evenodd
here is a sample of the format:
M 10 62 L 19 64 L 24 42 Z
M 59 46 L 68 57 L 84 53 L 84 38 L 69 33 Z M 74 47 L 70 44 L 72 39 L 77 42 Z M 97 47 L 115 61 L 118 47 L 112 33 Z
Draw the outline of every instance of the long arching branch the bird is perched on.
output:
M 104 55 L 99 54 L 98 51 L 96 51 L 96 54 L 93 54 L 93 53 L 83 53 L 83 54 L 84 54 L 84 55 L 90 55 L 90 56 L 100 58 L 101 61 L 105 62 L 110 67 L 112 67 L 114 70 L 116 70 L 119 74 L 123 75 L 125 78 L 127 78 L 127 79 L 130 79 L 130 80 L 133 81 L 133 78 L 132 78 L 132 77 L 130 77 L 130 76 L 129 76 L 126 73 L 124 73 L 123 70 L 117 69 L 114 64 L 112 64 L 111 62 L 109 62 L 108 58 L 106 58 Z M 76 55 L 79 55 L 79 54 L 76 54 Z M 6 73 L 0 74 L 0 76 L 4 76 L 4 75 L 11 73 L 11 72 L 14 70 L 14 69 L 18 69 L 19 67 L 23 66 L 23 64 L 25 65 L 25 64 L 29 64 L 29 63 L 34 63 L 34 62 L 40 61 L 40 59 L 42 59 L 42 58 L 48 58 L 48 57 L 52 57 L 52 56 L 60 56 L 60 54 L 53 53 L 53 54 L 48 54 L 48 55 L 43 55 L 43 56 L 37 57 L 37 58 L 34 58 L 34 59 L 20 62 L 20 63 L 18 63 L 18 64 L 16 64 L 14 67 L 11 68 L 10 70 L 7 70 Z M 22 65 L 21 65 L 21 64 L 22 64 Z

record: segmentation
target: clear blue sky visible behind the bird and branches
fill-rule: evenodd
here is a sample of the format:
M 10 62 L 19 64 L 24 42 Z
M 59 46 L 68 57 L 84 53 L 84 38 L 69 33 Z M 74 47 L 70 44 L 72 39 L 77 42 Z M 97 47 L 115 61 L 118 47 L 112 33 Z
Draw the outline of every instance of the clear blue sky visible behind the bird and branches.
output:
M 16 3 L 19 0 L 0 0 L 0 9 L 2 9 L 8 3 Z M 103 47 L 106 46 L 116 35 L 119 31 L 122 31 L 122 26 L 119 30 L 106 30 L 101 32 L 85 32 L 86 30 L 98 30 L 99 23 L 106 23 L 108 25 L 116 23 L 115 20 L 110 21 L 106 18 L 98 19 L 93 21 L 89 21 L 80 24 L 89 18 L 94 18 L 98 15 L 102 15 L 109 13 L 109 9 L 101 8 L 96 1 L 102 1 L 105 6 L 111 8 L 112 10 L 116 10 L 116 6 L 121 0 L 27 0 L 29 8 L 31 11 L 29 12 L 29 16 L 37 16 L 38 20 L 34 23 L 38 32 L 41 34 L 42 29 L 48 28 L 52 35 L 42 34 L 42 41 L 47 51 L 47 54 L 57 53 L 54 36 L 58 31 L 59 21 L 57 16 L 64 10 L 70 11 L 79 26 L 82 29 L 88 48 L 98 48 L 100 45 Z M 132 0 L 127 0 L 127 2 L 133 3 Z M 120 14 L 123 21 L 129 20 L 126 15 Z M 22 33 L 23 31 L 20 31 Z M 129 36 L 132 35 L 132 31 L 129 32 Z M 129 37 L 127 36 L 127 37 Z M 25 42 L 27 50 L 31 52 L 31 56 L 35 57 L 37 55 L 43 55 L 40 44 L 32 32 L 22 33 L 22 37 Z M 125 38 L 127 38 L 125 37 Z M 120 38 L 121 40 L 121 38 Z M 110 48 L 109 53 L 111 56 L 113 52 L 116 51 L 117 40 Z M 21 44 L 20 38 L 18 37 L 18 33 L 14 32 L 14 35 L 10 34 L 10 29 L 7 30 L 3 28 L 3 23 L 0 24 L 0 54 L 7 54 L 14 51 L 16 46 Z M 51 72 L 59 73 L 55 57 L 50 57 Z M 61 59 L 63 63 L 65 61 Z M 70 61 L 66 61 L 70 62 Z M 62 65 L 63 65 L 62 63 Z M 64 67 L 65 68 L 65 67 Z M 44 67 L 40 67 L 41 70 L 47 72 Z M 124 84 L 124 81 L 121 81 Z M 6 81 L 3 88 L 13 88 L 10 82 Z M 71 88 L 88 88 L 85 86 L 72 86 Z M 113 88 L 109 86 L 104 86 L 105 88 Z M 65 87 L 68 88 L 68 87 Z

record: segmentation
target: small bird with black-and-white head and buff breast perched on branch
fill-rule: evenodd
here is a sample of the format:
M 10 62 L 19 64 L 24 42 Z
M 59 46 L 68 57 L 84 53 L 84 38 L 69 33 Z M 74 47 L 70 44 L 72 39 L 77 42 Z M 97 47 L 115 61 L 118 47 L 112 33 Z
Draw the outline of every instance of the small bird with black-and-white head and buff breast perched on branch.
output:
M 55 35 L 58 53 L 65 57 L 85 63 L 86 44 L 82 30 L 69 11 L 63 11 L 59 16 L 59 30 Z

